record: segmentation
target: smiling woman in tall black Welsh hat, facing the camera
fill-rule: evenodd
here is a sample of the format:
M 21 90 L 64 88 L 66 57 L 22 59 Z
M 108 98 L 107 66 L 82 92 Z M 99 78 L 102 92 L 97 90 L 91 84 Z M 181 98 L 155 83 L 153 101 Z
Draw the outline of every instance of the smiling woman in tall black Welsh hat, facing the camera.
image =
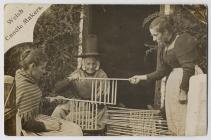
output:
M 79 78 L 107 78 L 107 74 L 100 69 L 99 53 L 97 52 L 97 38 L 94 35 L 90 35 L 87 39 L 86 52 L 84 52 L 79 57 L 82 58 L 81 68 L 75 70 L 70 76 L 57 83 L 57 85 L 62 85 L 63 87 L 71 87 L 71 91 L 74 91 L 73 94 L 69 94 L 68 98 L 76 98 L 81 100 L 91 100 L 91 88 L 92 84 L 89 80 L 78 80 Z M 61 86 L 61 87 L 62 87 Z M 63 118 L 71 120 L 70 109 L 71 102 L 58 105 L 54 112 L 52 113 L 53 117 Z M 85 110 L 84 110 L 85 111 Z M 106 107 L 102 106 L 98 112 L 98 122 L 99 127 L 103 128 L 104 125 L 101 122 L 104 118 Z

